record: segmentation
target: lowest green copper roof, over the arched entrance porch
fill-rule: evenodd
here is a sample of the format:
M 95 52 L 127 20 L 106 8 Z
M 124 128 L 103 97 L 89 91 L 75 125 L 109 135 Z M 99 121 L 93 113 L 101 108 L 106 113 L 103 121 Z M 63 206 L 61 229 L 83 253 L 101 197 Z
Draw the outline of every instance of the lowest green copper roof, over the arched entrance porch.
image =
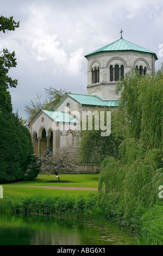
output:
M 71 117 L 71 115 L 66 112 L 48 110 L 42 110 L 42 112 L 47 114 L 48 117 L 52 118 L 55 122 L 79 123 L 76 118 Z

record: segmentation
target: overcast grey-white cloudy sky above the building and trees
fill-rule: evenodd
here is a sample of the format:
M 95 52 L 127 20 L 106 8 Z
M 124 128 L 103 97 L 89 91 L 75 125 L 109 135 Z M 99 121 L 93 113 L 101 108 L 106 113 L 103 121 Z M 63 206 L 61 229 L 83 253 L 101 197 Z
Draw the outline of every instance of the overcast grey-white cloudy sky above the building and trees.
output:
M 14 112 L 44 88 L 86 94 L 87 53 L 123 38 L 156 53 L 163 62 L 161 0 L 0 0 L 0 15 L 20 21 L 15 32 L 0 34 L 0 48 L 16 52 L 18 79 L 10 89 Z M 163 48 L 163 47 L 162 47 Z M 162 51 L 163 52 L 163 51 Z M 159 56 L 160 55 L 160 56 Z

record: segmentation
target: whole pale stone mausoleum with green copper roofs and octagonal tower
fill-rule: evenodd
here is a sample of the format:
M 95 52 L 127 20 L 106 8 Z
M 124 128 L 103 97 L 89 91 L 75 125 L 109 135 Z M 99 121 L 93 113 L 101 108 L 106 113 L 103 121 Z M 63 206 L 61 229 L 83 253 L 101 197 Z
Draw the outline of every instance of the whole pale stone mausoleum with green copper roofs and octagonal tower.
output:
M 132 68 L 142 76 L 155 70 L 157 56 L 141 46 L 121 38 L 85 56 L 87 59 L 87 95 L 68 93 L 51 111 L 41 110 L 29 124 L 35 154 L 43 154 L 47 147 L 69 151 L 78 157 L 78 114 L 97 107 L 115 109 L 120 95 L 115 93 L 119 78 Z M 56 128 L 58 127 L 58 129 Z M 66 127 L 66 129 L 65 129 Z

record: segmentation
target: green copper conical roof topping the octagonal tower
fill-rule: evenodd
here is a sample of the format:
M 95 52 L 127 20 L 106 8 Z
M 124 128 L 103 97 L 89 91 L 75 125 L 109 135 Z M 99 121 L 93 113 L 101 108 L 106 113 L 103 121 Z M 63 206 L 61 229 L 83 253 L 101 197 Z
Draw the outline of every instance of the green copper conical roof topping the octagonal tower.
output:
M 98 50 L 96 50 L 94 52 L 91 52 L 91 53 L 85 55 L 85 57 L 91 56 L 91 55 L 99 53 L 99 52 L 111 52 L 111 51 L 137 51 L 137 52 L 146 52 L 146 53 L 155 54 L 154 52 L 149 51 L 146 48 L 135 45 L 135 44 L 133 44 L 133 42 L 129 42 L 122 38 L 115 42 L 111 42 L 111 44 L 106 45 L 102 48 L 99 48 Z M 158 59 L 156 54 L 155 54 L 155 57 L 156 57 L 156 59 Z

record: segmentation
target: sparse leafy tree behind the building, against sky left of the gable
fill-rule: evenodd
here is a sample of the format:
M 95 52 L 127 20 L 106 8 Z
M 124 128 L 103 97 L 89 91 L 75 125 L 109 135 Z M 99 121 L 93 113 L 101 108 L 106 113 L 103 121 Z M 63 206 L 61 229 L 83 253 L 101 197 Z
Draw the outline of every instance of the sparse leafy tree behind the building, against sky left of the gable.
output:
M 41 110 L 52 110 L 55 105 L 61 100 L 61 98 L 66 94 L 65 90 L 57 90 L 53 87 L 45 88 L 46 99 L 41 102 L 41 96 L 36 97 L 36 101 L 31 100 L 30 105 L 25 106 L 25 111 L 28 117 L 28 122 L 30 122 L 35 115 Z

